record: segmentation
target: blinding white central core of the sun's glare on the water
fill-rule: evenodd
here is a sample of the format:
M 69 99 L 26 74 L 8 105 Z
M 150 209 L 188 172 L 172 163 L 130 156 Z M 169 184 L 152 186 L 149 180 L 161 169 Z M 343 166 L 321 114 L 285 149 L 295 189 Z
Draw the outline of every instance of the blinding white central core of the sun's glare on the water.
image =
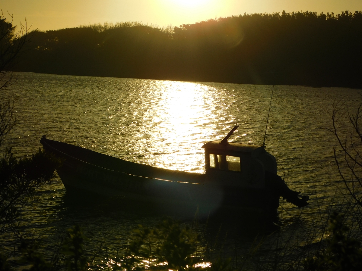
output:
M 215 108 L 210 107 L 215 89 L 189 82 L 158 83 L 159 102 L 145 114 L 156 124 L 151 132 L 152 152 L 167 153 L 155 155 L 155 165 L 180 169 L 188 161 L 183 170 L 195 171 L 193 165 L 203 159 L 201 146 L 214 132 L 213 125 L 207 124 L 216 119 Z

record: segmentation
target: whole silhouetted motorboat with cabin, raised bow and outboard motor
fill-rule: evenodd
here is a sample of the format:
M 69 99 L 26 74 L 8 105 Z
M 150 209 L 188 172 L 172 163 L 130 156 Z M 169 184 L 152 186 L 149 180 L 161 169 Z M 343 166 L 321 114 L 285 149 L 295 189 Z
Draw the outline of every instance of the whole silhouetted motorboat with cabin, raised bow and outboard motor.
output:
M 101 154 L 82 147 L 47 139 L 46 151 L 64 158 L 58 174 L 67 191 L 122 195 L 136 201 L 198 204 L 208 210 L 220 206 L 271 210 L 279 197 L 302 207 L 299 199 L 276 175 L 277 163 L 265 146 L 210 141 L 205 149 L 206 173 L 190 173 L 152 167 Z M 206 209 L 205 209 L 206 210 Z

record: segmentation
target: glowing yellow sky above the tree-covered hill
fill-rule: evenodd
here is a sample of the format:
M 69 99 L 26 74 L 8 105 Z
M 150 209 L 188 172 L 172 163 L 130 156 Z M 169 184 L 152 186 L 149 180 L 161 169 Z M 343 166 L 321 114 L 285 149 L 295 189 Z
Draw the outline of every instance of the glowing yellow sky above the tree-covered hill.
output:
M 362 10 L 362 0 L 0 0 L 14 25 L 30 30 L 55 30 L 104 22 L 138 21 L 179 26 L 244 13 Z

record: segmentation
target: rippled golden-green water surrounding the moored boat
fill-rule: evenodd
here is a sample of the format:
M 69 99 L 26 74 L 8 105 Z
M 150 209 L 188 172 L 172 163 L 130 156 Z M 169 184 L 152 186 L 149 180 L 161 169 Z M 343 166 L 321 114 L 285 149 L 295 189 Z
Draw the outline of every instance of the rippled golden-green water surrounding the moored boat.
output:
M 49 139 L 133 162 L 204 172 L 201 146 L 222 139 L 236 123 L 240 127 L 229 141 L 262 144 L 271 89 L 263 85 L 20 73 L 17 82 L 3 93 L 16 101 L 18 124 L 1 147 L 45 134 Z M 360 100 L 355 89 L 274 88 L 267 150 L 277 159 L 278 174 L 286 172 L 290 188 L 310 195 L 310 205 L 302 215 L 298 207 L 284 204 L 286 228 L 295 224 L 295 220 L 288 220 L 293 216 L 300 218 L 298 223 L 310 223 L 318 212 L 316 196 L 328 206 L 340 183 L 333 157 L 337 142 L 326 128 L 332 127 L 332 104 L 341 98 L 351 106 Z M 13 151 L 22 157 L 39 147 L 37 139 Z M 335 201 L 341 202 L 342 195 Z M 131 229 L 137 224 L 155 225 L 161 217 L 127 210 L 94 212 L 93 207 L 74 203 L 58 178 L 39 191 L 38 203 L 25 210 L 22 230 L 41 237 L 45 244 L 54 244 L 64 229 L 81 224 L 86 233 L 95 236 L 94 244 L 121 244 L 124 248 Z M 233 232 L 239 237 L 248 235 L 245 229 Z M 11 254 L 12 236 L 0 238 L 10 258 L 15 257 L 16 253 Z

